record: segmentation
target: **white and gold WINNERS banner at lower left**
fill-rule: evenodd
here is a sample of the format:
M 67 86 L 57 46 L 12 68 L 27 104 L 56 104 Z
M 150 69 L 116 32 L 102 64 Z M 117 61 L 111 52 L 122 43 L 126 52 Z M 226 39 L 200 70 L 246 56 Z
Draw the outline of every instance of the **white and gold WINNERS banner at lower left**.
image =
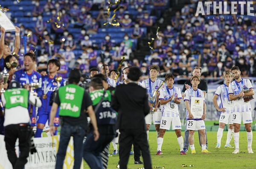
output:
M 28 162 L 25 165 L 25 169 L 55 169 L 59 138 L 59 135 L 52 137 L 34 138 L 37 152 L 34 154 L 29 153 L 29 157 L 27 158 Z M 16 142 L 15 148 L 16 152 L 18 152 L 18 142 Z M 9 159 L 7 157 L 3 135 L 0 135 L 0 151 L 0 169 L 12 169 L 12 164 L 9 162 Z M 73 168 L 73 165 L 74 143 L 73 137 L 71 137 L 67 147 L 66 158 L 63 168 L 70 169 Z M 83 161 L 81 163 L 81 169 L 83 169 Z

